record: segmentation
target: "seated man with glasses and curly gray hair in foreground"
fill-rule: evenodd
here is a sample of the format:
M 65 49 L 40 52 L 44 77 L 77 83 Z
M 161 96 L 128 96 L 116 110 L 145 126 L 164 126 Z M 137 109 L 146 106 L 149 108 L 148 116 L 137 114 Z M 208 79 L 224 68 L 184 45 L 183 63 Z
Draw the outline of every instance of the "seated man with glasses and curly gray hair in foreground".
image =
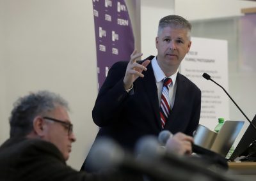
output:
M 0 180 L 140 180 L 119 171 L 88 174 L 67 166 L 76 141 L 68 110 L 67 101 L 48 91 L 17 100 L 10 138 L 0 147 Z

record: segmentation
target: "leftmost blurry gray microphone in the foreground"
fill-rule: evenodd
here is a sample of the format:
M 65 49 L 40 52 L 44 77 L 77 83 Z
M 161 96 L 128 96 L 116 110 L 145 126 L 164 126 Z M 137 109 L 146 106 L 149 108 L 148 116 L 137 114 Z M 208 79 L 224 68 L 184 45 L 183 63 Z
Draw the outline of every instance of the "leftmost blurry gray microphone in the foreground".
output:
M 188 180 L 188 175 L 181 173 L 181 176 L 175 175 L 174 171 L 170 170 L 170 167 L 159 161 L 153 162 L 152 159 L 134 157 L 131 153 L 125 152 L 110 138 L 100 138 L 95 141 L 92 147 L 91 158 L 88 164 L 97 170 L 120 168 L 121 170 L 134 171 L 134 173 L 146 175 L 155 180 L 168 181 L 170 178 L 174 180 Z M 184 177 L 187 178 L 184 179 Z

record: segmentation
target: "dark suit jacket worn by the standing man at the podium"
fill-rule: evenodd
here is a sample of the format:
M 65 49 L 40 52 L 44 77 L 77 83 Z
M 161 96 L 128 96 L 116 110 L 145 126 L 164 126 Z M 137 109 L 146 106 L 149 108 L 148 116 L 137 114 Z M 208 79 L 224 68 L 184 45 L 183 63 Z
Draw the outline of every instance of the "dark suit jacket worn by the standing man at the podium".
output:
M 153 59 L 153 56 L 147 59 Z M 151 63 L 144 78 L 134 82 L 134 94 L 124 90 L 128 62 L 116 62 L 109 69 L 95 106 L 93 121 L 100 126 L 97 138 L 109 136 L 122 147 L 132 150 L 136 141 L 147 134 L 158 135 L 161 129 L 156 78 Z M 164 129 L 173 134 L 181 131 L 192 135 L 200 119 L 201 91 L 188 78 L 178 73 L 175 103 Z M 96 139 L 97 139 L 96 138 Z

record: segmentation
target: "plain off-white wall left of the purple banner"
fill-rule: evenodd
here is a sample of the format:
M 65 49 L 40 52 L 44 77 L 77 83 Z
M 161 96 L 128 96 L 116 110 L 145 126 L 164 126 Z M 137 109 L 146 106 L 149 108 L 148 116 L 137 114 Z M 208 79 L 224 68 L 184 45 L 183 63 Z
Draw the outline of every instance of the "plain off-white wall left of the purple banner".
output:
M 2 86 L 0 92 L 0 141 L 8 138 L 8 117 L 19 96 L 41 89 L 60 93 L 70 103 L 77 137 L 68 163 L 79 169 L 98 129 L 92 121 L 97 96 L 92 1 L 1 0 L 0 7 L 5 23 L 0 46 L 6 49 L 0 57 L 1 84 L 6 82 L 6 92 Z

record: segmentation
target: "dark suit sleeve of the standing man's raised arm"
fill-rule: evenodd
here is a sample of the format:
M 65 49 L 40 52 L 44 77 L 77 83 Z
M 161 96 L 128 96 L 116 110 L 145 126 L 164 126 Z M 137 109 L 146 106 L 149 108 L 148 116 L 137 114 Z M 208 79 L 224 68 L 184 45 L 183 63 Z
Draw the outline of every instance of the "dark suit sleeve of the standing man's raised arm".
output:
M 128 62 L 117 62 L 109 69 L 95 106 L 92 111 L 93 121 L 97 126 L 109 126 L 117 120 L 129 94 L 124 89 L 124 75 Z

